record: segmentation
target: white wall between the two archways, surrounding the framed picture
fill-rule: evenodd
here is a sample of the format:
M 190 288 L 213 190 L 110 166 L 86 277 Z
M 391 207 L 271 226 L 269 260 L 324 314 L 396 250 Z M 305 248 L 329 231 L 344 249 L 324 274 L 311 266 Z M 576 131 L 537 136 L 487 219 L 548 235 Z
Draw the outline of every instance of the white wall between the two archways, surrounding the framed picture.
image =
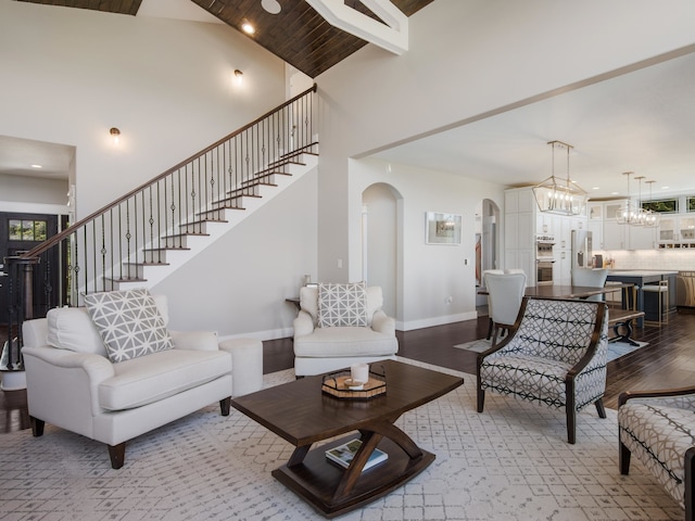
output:
M 476 208 L 482 199 L 500 204 L 504 187 L 409 165 L 351 161 L 351 202 L 375 182 L 390 185 L 403 198 L 403 281 L 399 288 L 403 307 L 395 317 L 397 328 L 407 331 L 476 318 Z M 460 214 L 462 244 L 426 244 L 427 212 Z M 362 278 L 358 268 L 351 270 L 355 274 L 351 280 Z

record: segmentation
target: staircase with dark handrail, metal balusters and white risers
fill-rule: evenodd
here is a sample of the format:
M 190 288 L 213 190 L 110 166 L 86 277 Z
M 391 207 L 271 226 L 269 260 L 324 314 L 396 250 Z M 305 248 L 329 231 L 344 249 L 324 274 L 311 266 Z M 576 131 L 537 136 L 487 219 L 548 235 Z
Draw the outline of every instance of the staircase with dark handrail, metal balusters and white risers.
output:
M 316 85 L 8 259 L 11 329 L 51 307 L 81 305 L 87 293 L 160 283 L 315 168 L 315 92 Z M 55 271 L 58 288 L 48 276 Z

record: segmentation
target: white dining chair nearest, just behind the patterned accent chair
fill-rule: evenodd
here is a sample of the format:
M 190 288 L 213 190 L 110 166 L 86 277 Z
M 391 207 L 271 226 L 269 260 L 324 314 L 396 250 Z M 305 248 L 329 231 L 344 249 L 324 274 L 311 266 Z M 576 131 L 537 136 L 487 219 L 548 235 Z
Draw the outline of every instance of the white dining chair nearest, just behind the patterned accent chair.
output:
M 492 345 L 495 345 L 497 335 L 511 329 L 517 319 L 526 290 L 526 274 L 485 274 L 485 288 L 493 325 Z

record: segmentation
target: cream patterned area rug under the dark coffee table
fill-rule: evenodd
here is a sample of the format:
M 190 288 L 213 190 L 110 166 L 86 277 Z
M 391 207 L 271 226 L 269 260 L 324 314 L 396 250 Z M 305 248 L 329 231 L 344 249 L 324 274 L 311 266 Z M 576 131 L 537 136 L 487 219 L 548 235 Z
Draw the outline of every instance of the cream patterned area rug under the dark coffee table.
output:
M 403 360 L 408 361 L 408 360 Z M 437 459 L 383 498 L 338 519 L 379 520 L 680 520 L 683 511 L 633 461 L 618 471 L 616 411 L 577 420 L 566 440 L 560 410 L 489 393 L 476 412 L 473 379 L 397 421 Z M 291 370 L 266 385 L 293 379 Z M 292 446 L 232 409 L 207 407 L 128 443 L 112 470 L 106 448 L 46 425 L 0 435 L 3 520 L 315 520 L 306 503 L 270 471 Z

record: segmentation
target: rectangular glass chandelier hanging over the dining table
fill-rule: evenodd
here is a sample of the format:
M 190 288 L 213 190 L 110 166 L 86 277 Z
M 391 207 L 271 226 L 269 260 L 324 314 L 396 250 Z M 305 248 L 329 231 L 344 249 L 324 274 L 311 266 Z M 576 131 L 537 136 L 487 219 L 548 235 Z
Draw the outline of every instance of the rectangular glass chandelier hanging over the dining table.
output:
M 548 214 L 581 215 L 586 207 L 587 194 L 569 178 L 569 151 L 573 147 L 561 141 L 548 141 L 547 144 L 553 148 L 552 175 L 533 187 L 533 195 L 539 209 Z M 555 177 L 555 149 L 567 150 L 567 178 L 565 181 Z

